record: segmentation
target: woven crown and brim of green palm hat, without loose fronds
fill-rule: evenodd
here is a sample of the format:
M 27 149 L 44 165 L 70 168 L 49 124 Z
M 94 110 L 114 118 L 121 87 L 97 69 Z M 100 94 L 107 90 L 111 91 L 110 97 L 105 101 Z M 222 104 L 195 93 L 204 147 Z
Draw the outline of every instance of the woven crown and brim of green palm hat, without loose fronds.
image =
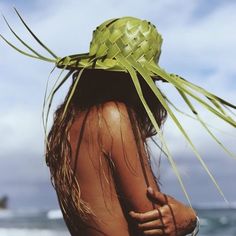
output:
M 147 63 L 157 66 L 161 45 L 162 37 L 150 22 L 134 17 L 110 19 L 93 31 L 89 53 L 64 57 L 57 66 L 127 72 L 121 57 L 144 67 Z

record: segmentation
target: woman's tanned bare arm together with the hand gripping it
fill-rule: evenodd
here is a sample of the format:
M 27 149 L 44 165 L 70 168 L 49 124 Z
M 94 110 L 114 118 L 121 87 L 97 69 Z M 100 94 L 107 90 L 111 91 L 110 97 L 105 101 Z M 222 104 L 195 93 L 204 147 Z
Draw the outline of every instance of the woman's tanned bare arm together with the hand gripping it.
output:
M 153 201 L 150 194 L 147 195 L 146 189 L 148 186 L 152 187 L 155 193 L 158 191 L 158 186 L 148 164 L 144 146 L 141 146 L 142 157 L 140 157 L 126 106 L 123 103 L 109 102 L 103 106 L 102 113 L 105 121 L 104 130 L 109 130 L 109 134 L 103 132 L 105 135 L 102 135 L 104 148 L 106 152 L 110 153 L 114 163 L 115 175 L 122 198 L 130 206 L 126 209 L 127 212 L 132 210 L 144 213 L 143 215 L 139 214 L 136 220 L 140 220 L 140 217 L 142 219 L 142 217 L 146 217 L 151 213 L 151 218 L 149 217 L 146 220 L 151 224 L 155 220 L 155 234 L 150 235 L 164 235 L 163 229 L 165 235 L 175 235 L 176 230 L 177 235 L 185 235 L 185 233 L 191 232 L 194 223 L 191 225 L 190 221 L 195 221 L 196 216 L 190 208 L 168 197 L 169 205 L 173 209 L 173 212 L 170 212 L 169 207 L 161 206 L 163 205 L 162 199 L 156 198 Z M 140 158 L 143 158 L 144 169 Z M 147 176 L 146 180 L 144 171 Z M 153 202 L 156 203 L 155 207 Z M 133 219 L 135 219 L 135 215 L 133 215 Z M 153 233 L 153 231 L 150 231 L 150 224 L 143 225 L 143 221 L 140 223 L 139 226 L 141 226 L 143 232 L 147 232 L 146 227 L 149 229 L 148 233 Z

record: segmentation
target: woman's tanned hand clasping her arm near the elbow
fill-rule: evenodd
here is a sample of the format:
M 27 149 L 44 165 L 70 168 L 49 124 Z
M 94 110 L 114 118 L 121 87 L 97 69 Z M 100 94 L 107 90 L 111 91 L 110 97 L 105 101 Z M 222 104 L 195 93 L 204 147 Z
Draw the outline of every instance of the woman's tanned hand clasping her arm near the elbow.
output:
M 148 188 L 148 197 L 161 205 L 145 213 L 130 212 L 144 235 L 183 236 L 191 233 L 196 225 L 196 214 L 173 197 Z

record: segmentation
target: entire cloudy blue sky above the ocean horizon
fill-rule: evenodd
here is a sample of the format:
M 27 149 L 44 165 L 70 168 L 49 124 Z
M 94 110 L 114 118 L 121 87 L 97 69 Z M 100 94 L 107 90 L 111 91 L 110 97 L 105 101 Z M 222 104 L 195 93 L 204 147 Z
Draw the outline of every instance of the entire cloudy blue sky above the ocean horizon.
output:
M 25 31 L 14 13 L 14 6 L 37 36 L 59 56 L 87 52 L 92 31 L 109 18 L 134 16 L 147 19 L 157 26 L 164 38 L 159 62 L 162 68 L 236 103 L 235 1 L 50 0 L 45 3 L 43 0 L 1 0 L 0 11 L 14 30 L 47 55 Z M 0 33 L 19 45 L 3 19 L 0 20 Z M 0 196 L 9 196 L 11 208 L 57 208 L 44 161 L 41 120 L 46 80 L 53 64 L 22 56 L 1 40 L 0 55 Z M 62 102 L 67 86 L 57 96 L 54 109 Z M 173 89 L 168 85 L 160 86 L 183 107 Z M 199 110 L 212 131 L 236 153 L 235 129 L 201 107 Z M 227 156 L 196 121 L 183 116 L 179 118 L 227 199 L 236 203 L 236 160 Z M 164 134 L 192 203 L 223 203 L 170 120 L 166 122 Z M 159 157 L 154 147 L 153 156 Z M 171 167 L 165 157 L 161 160 L 163 191 L 185 201 Z

